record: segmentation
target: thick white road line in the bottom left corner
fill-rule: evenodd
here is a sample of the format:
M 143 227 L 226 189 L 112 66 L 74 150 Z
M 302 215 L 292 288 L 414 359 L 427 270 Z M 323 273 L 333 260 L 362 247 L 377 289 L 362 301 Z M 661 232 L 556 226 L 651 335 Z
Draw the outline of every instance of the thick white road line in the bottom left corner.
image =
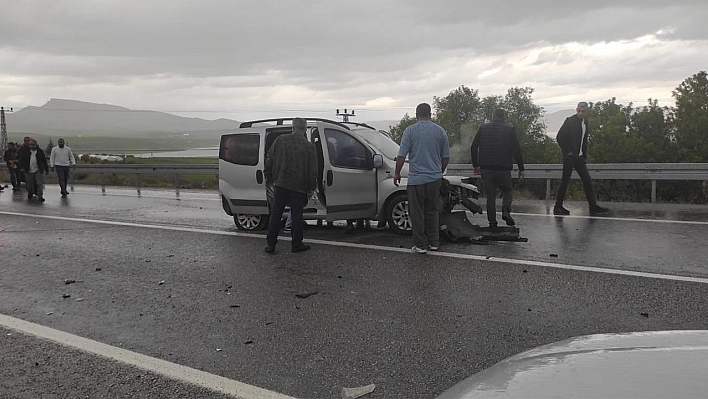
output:
M 263 388 L 244 384 L 239 381 L 230 380 L 228 378 L 209 374 L 204 371 L 171 363 L 165 360 L 141 355 L 140 353 L 132 352 L 126 349 L 116 348 L 98 341 L 55 330 L 39 324 L 30 323 L 28 321 L 16 319 L 3 314 L 0 314 L 0 325 L 11 330 L 19 331 L 21 333 L 53 341 L 64 346 L 76 348 L 84 352 L 106 357 L 108 359 L 138 367 L 143 370 L 155 372 L 174 380 L 232 395 L 236 398 L 293 399 L 290 396 L 277 392 L 268 391 Z

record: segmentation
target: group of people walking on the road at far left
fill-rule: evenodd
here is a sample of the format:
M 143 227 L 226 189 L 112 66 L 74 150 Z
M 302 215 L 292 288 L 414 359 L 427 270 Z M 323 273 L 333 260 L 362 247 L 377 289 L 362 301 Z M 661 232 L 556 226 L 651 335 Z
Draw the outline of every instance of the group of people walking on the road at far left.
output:
M 55 169 L 62 197 L 69 194 L 66 189 L 69 181 L 69 169 L 72 166 L 76 168 L 76 159 L 63 138 L 57 140 L 57 145 L 52 148 L 49 160 L 37 145 L 37 140 L 31 137 L 25 137 L 22 145 L 7 143 L 3 159 L 7 164 L 12 191 L 20 191 L 20 183 L 24 177 L 28 200 L 32 200 L 36 195 L 39 202 L 44 202 L 44 179 L 50 171 L 53 172 Z

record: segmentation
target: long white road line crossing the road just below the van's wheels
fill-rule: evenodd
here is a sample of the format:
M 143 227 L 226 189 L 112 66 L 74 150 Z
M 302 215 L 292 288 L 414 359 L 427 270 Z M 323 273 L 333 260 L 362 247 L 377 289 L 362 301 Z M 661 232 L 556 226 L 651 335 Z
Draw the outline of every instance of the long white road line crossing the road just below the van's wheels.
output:
M 257 238 L 260 240 L 263 240 L 265 238 L 263 235 L 259 235 L 259 234 L 242 233 L 242 232 L 234 232 L 234 231 L 207 230 L 207 229 L 198 229 L 198 228 L 193 228 L 193 227 L 179 227 L 179 226 L 167 226 L 167 225 L 161 226 L 161 225 L 154 225 L 154 224 L 116 222 L 116 221 L 98 220 L 98 219 L 81 219 L 81 218 L 72 218 L 72 217 L 64 217 L 64 216 L 33 215 L 33 214 L 27 214 L 27 213 L 7 212 L 7 211 L 0 211 L 0 214 L 12 215 L 12 216 L 27 216 L 27 217 L 33 217 L 33 218 L 39 218 L 39 219 L 96 223 L 96 224 L 105 224 L 105 225 L 111 225 L 111 226 L 142 227 L 142 228 L 148 228 L 148 229 L 183 231 L 183 232 L 189 232 L 189 233 L 248 237 L 248 238 Z M 283 241 L 290 241 L 291 240 L 290 237 L 279 237 L 278 239 L 283 240 Z M 359 244 L 359 243 L 348 243 L 348 242 L 316 240 L 316 239 L 308 239 L 307 242 L 313 243 L 313 244 L 331 245 L 331 246 L 347 247 L 347 248 L 365 248 L 365 249 L 379 250 L 379 251 L 411 253 L 410 248 L 395 248 L 395 247 L 386 247 L 386 246 L 382 246 L 382 245 Z M 422 256 L 422 255 L 416 255 L 416 256 Z M 492 256 L 484 256 L 484 255 L 469 255 L 469 254 L 458 254 L 458 253 L 453 253 L 453 252 L 432 252 L 432 251 L 428 251 L 427 256 L 442 256 L 442 257 L 455 258 L 455 259 L 478 260 L 478 261 L 482 261 L 482 262 L 511 263 L 511 264 L 516 264 L 516 265 L 525 265 L 525 266 L 538 266 L 538 267 L 548 267 L 548 268 L 554 268 L 554 269 L 575 270 L 575 271 L 582 271 L 582 272 L 616 274 L 616 275 L 622 275 L 622 276 L 646 277 L 646 278 L 654 278 L 654 279 L 661 279 L 661 280 L 673 280 L 673 281 L 708 284 L 708 278 L 701 278 L 701 277 L 686 277 L 686 276 L 676 276 L 676 275 L 672 275 L 672 274 L 647 273 L 647 272 L 637 272 L 637 271 L 631 271 L 631 270 L 608 269 L 608 268 L 603 268 L 603 267 L 578 266 L 578 265 L 569 265 L 569 264 L 563 264 L 563 263 L 541 262 L 541 261 L 525 260 L 525 259 L 498 258 L 498 257 L 492 257 Z

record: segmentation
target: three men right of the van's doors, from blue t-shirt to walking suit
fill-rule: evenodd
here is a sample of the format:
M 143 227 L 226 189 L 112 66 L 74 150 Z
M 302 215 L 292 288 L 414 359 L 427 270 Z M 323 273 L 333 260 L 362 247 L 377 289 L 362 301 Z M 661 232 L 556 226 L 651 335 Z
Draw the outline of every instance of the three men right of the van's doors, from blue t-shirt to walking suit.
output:
M 563 207 L 573 169 L 578 172 L 583 183 L 585 196 L 590 205 L 591 215 L 602 215 L 609 209 L 597 204 L 592 190 L 592 181 L 586 165 L 588 136 L 588 104 L 578 103 L 575 115 L 565 119 L 558 131 L 556 141 L 563 154 L 563 175 L 558 187 L 554 215 L 570 215 Z M 401 169 L 406 157 L 409 158 L 408 210 L 413 230 L 415 253 L 425 254 L 440 247 L 439 232 L 439 190 L 440 181 L 450 160 L 450 148 L 445 130 L 431 121 L 430 105 L 422 103 L 416 108 L 417 123 L 403 131 L 401 146 L 396 159 L 394 183 L 401 181 Z M 502 220 L 507 226 L 516 222 L 511 216 L 512 176 L 514 161 L 518 165 L 519 180 L 525 176 L 524 157 L 516 128 L 506 123 L 506 112 L 496 109 L 492 121 L 480 126 L 470 148 L 474 174 L 481 175 L 487 201 L 489 227 L 497 224 L 496 197 L 502 193 Z

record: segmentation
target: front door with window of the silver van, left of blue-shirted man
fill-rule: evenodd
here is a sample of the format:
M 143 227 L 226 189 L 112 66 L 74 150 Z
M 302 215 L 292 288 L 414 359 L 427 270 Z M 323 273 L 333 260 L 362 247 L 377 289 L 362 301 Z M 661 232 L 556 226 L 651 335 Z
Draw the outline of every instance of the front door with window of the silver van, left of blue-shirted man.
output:
M 318 122 L 327 220 L 373 219 L 378 185 L 371 149 L 346 127 Z

